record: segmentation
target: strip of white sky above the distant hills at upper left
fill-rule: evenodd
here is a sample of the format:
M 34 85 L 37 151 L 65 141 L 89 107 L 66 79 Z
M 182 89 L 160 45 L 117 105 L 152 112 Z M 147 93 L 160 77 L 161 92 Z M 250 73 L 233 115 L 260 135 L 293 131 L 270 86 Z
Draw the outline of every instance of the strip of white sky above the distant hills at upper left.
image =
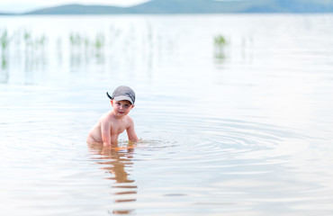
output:
M 61 4 L 101 4 L 130 6 L 149 0 L 0 0 L 0 12 L 23 13 Z

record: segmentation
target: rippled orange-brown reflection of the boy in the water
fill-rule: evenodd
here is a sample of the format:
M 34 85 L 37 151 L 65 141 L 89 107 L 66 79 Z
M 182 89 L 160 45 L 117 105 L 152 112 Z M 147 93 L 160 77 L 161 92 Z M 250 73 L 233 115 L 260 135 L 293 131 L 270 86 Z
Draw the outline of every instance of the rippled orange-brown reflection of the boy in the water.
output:
M 89 144 L 90 152 L 98 157 L 92 157 L 96 160 L 101 169 L 106 173 L 110 173 L 111 177 L 106 179 L 112 180 L 112 193 L 114 202 L 135 202 L 135 194 L 137 194 L 138 186 L 133 184 L 135 181 L 130 179 L 129 169 L 133 166 L 131 161 L 134 144 L 128 144 L 126 147 L 112 146 L 103 147 L 101 143 Z M 113 209 L 112 214 L 128 214 L 134 210 L 129 209 Z

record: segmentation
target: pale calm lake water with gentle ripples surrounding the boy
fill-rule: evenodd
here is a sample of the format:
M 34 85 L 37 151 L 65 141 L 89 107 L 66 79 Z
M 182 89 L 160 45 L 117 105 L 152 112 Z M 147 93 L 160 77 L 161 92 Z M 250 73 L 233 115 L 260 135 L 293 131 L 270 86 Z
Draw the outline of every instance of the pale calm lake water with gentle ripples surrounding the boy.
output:
M 332 215 L 331 23 L 1 16 L 0 214 Z M 87 146 L 118 85 L 141 141 Z

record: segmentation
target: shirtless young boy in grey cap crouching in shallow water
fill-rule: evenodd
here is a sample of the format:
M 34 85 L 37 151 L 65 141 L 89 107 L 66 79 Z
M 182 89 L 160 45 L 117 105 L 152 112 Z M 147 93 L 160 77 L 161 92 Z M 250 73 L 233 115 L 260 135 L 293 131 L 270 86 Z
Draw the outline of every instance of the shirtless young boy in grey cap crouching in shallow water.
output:
M 112 111 L 103 114 L 101 119 L 89 131 L 86 142 L 103 143 L 103 146 L 117 144 L 118 136 L 125 129 L 130 141 L 139 141 L 135 131 L 134 122 L 128 115 L 134 107 L 135 93 L 128 87 L 121 85 L 117 87 L 112 96 L 106 93 L 111 99 Z

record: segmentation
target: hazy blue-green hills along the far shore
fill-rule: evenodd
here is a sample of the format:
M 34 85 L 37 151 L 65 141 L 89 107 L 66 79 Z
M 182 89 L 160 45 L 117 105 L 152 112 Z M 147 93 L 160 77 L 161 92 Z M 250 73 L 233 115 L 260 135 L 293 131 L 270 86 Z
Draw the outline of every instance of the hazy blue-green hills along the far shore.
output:
M 25 14 L 333 13 L 333 0 L 151 0 L 130 7 L 67 4 Z

